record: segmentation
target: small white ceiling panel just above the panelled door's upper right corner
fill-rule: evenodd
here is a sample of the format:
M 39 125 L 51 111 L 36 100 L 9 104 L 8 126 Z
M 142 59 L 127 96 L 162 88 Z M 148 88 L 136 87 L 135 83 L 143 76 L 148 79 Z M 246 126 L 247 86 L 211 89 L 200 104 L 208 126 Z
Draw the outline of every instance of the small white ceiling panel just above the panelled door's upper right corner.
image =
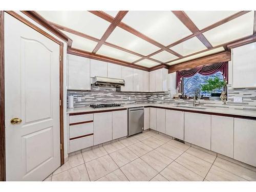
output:
M 97 42 L 95 42 L 93 40 L 89 40 L 89 39 L 80 37 L 78 35 L 74 35 L 72 33 L 66 32 L 66 31 L 61 31 L 61 32 L 65 33 L 68 37 L 70 37 L 73 40 L 72 46 L 71 46 L 72 48 L 77 48 L 77 49 L 81 49 L 84 51 L 92 52 L 93 49 L 97 45 Z

